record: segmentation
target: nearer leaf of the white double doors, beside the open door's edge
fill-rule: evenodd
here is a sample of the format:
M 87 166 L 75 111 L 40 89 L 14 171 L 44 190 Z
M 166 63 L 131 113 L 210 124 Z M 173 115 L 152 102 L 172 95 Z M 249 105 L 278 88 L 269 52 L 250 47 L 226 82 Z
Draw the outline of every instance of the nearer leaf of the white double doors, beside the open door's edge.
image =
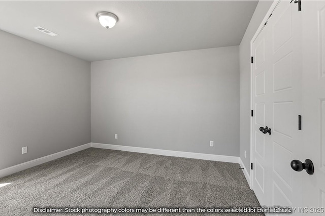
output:
M 271 205 L 300 206 L 301 184 L 290 167 L 293 158 L 302 154 L 302 133 L 298 130 L 301 115 L 301 14 L 297 5 L 282 1 L 274 11 L 272 73 L 270 90 L 273 108 Z

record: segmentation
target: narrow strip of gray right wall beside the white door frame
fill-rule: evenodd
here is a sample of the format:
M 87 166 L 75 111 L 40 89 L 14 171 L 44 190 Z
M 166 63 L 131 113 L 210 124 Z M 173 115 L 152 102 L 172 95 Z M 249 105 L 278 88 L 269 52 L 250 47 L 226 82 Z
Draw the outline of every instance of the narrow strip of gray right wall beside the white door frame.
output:
M 250 165 L 250 40 L 273 1 L 259 1 L 239 46 L 240 55 L 240 158 Z M 244 151 L 246 150 L 246 158 Z M 248 172 L 249 174 L 249 172 Z

